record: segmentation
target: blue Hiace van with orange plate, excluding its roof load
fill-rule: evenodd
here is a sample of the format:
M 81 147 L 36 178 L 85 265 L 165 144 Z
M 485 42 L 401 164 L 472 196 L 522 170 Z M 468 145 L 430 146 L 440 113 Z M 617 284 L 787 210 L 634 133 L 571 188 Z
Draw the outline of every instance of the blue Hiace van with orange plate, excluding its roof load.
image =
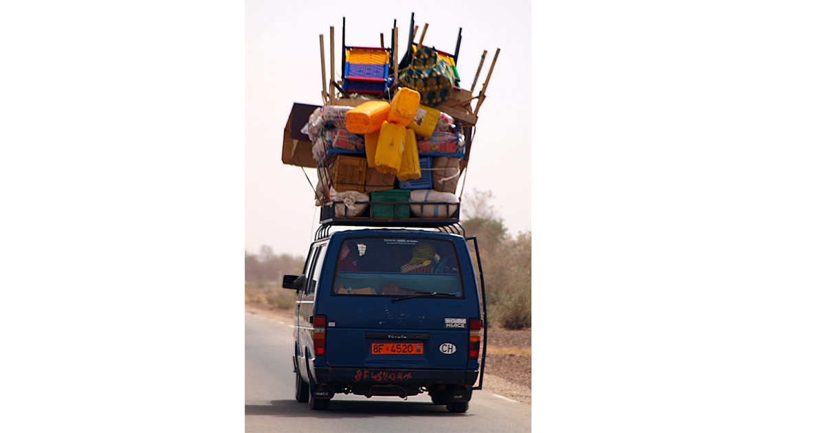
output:
M 466 412 L 486 349 L 467 241 L 445 230 L 353 229 L 316 237 L 295 289 L 295 398 L 314 410 L 337 393 L 428 393 Z M 475 248 L 477 263 L 478 247 Z M 476 385 L 478 383 L 478 385 Z

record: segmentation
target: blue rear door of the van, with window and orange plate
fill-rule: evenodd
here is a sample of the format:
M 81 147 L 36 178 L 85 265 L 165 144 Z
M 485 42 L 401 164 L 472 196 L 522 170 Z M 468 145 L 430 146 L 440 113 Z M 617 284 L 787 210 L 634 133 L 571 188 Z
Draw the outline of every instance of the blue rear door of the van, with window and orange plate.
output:
M 466 247 L 450 238 L 350 238 L 328 260 L 337 262 L 318 308 L 328 366 L 478 368 L 469 360 L 469 320 L 481 316 Z

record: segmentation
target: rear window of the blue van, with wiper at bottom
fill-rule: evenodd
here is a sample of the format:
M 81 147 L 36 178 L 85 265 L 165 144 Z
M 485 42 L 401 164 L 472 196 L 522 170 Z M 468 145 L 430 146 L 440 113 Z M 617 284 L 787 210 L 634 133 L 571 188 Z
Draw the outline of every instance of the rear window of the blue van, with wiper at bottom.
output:
M 455 246 L 423 238 L 349 238 L 337 252 L 333 295 L 464 297 Z

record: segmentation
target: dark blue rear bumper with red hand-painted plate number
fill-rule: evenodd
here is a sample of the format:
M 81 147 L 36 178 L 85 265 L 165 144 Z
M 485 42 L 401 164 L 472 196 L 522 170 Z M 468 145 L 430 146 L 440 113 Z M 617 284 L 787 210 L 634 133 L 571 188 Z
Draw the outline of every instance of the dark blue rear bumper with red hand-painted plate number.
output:
M 471 369 L 356 369 L 351 367 L 315 367 L 319 384 L 460 384 L 473 386 L 479 377 Z

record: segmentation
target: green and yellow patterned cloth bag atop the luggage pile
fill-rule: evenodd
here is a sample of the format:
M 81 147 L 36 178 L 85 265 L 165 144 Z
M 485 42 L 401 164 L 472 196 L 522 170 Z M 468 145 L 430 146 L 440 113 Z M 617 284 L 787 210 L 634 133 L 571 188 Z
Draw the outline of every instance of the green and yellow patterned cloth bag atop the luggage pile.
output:
M 413 54 L 408 68 L 398 75 L 398 82 L 421 93 L 421 103 L 435 107 L 450 99 L 455 77 L 444 60 L 438 58 L 435 49 L 420 47 Z

